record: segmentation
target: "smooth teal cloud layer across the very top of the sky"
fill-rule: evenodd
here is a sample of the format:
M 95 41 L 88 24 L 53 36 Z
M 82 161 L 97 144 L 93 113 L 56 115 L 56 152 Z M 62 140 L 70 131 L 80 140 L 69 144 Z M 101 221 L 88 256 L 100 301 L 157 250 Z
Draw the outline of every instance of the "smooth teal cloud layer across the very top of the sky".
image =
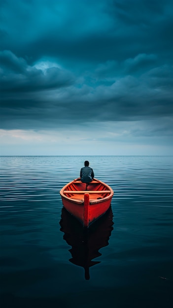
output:
M 35 61 L 122 61 L 138 54 L 171 57 L 172 1 L 11 1 L 2 7 L 1 46 Z M 10 21 L 9 21 L 10 19 Z M 85 63 L 83 63 L 84 65 Z M 77 65 L 77 62 L 75 63 Z

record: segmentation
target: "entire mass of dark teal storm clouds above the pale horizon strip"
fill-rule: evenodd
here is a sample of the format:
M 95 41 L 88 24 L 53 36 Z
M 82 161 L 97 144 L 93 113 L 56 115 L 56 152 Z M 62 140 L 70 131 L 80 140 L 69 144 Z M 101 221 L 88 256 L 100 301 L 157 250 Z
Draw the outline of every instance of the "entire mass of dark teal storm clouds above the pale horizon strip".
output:
M 166 130 L 172 16 L 171 0 L 1 1 L 1 128 L 162 119 Z

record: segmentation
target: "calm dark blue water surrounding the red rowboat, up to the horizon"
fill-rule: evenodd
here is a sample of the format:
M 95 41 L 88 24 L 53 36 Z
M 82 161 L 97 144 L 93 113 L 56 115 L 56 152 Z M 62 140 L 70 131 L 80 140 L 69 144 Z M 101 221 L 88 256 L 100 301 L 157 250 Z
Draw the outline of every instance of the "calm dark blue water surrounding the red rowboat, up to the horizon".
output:
M 59 194 L 85 159 L 114 190 L 87 234 Z M 173 156 L 3 156 L 0 167 L 1 308 L 172 307 Z

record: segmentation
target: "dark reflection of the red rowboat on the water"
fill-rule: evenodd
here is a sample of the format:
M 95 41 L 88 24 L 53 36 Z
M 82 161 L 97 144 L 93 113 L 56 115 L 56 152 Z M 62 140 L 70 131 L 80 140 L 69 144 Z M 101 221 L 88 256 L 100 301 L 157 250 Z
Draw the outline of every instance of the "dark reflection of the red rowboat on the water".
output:
M 71 248 L 72 258 L 69 261 L 81 266 L 85 270 L 85 279 L 90 278 L 89 268 L 101 261 L 92 261 L 102 255 L 99 249 L 108 245 L 108 240 L 113 230 L 113 214 L 111 206 L 107 212 L 95 221 L 88 229 L 63 207 L 60 220 L 60 231 L 64 232 L 63 239 Z

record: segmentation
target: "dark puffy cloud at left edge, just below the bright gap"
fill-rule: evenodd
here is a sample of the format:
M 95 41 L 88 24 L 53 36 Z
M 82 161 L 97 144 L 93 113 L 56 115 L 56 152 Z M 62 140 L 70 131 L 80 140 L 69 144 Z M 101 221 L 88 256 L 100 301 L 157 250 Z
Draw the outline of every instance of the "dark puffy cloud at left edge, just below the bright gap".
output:
M 27 92 L 41 89 L 67 87 L 72 83 L 72 74 L 57 67 L 47 68 L 45 73 L 27 65 L 10 51 L 0 52 L 1 91 Z

